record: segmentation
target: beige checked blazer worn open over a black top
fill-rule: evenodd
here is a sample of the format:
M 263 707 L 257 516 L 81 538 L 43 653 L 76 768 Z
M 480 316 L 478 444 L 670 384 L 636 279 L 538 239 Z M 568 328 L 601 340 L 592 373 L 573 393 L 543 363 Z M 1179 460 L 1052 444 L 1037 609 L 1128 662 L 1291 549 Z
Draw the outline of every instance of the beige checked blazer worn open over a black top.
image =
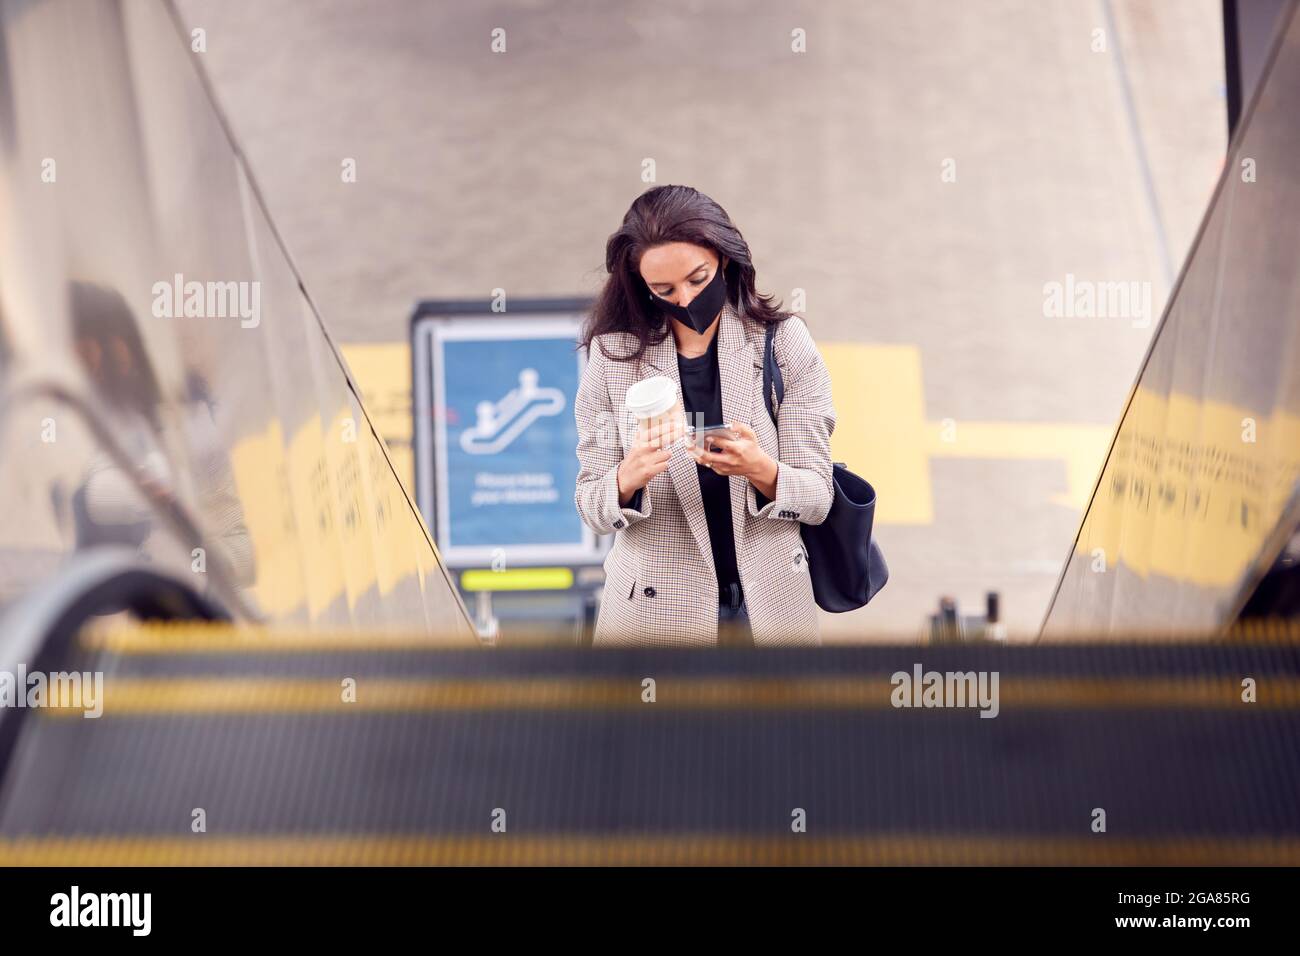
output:
M 777 436 L 763 405 L 764 323 L 742 319 L 731 302 L 720 323 L 723 418 L 748 423 L 777 460 L 776 498 L 762 506 L 748 479 L 729 479 L 736 563 L 754 644 L 816 645 L 818 607 L 800 525 L 820 524 L 831 510 L 831 376 L 805 321 L 790 315 L 779 323 L 775 350 L 785 398 Z M 640 367 L 615 358 L 634 351 L 630 333 L 598 336 L 575 406 L 580 470 L 573 499 L 589 528 L 615 535 L 593 645 L 714 645 L 718 575 L 690 453 L 673 447 L 668 467 L 650 479 L 640 502 L 629 502 L 640 511 L 619 506 L 618 467 L 636 438 L 628 388 L 655 375 L 681 381 L 671 334 L 646 349 Z

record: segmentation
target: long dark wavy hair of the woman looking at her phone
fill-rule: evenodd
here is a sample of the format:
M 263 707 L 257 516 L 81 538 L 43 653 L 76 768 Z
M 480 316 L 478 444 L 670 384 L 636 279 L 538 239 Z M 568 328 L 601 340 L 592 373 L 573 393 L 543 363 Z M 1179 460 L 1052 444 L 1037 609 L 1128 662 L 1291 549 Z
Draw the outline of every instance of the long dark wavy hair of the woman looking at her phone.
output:
M 619 232 L 604 243 L 604 269 L 610 277 L 582 326 L 580 347 L 590 350 L 597 336 L 629 332 L 637 339 L 630 355 L 608 355 L 616 362 L 640 362 L 650 346 L 672 334 L 672 321 L 650 300 L 641 278 L 641 256 L 668 242 L 705 246 L 728 259 L 723 278 L 727 300 L 741 316 L 779 323 L 786 316 L 772 295 L 754 289 L 754 261 L 749 245 L 731 216 L 718 203 L 690 186 L 655 186 L 633 200 Z

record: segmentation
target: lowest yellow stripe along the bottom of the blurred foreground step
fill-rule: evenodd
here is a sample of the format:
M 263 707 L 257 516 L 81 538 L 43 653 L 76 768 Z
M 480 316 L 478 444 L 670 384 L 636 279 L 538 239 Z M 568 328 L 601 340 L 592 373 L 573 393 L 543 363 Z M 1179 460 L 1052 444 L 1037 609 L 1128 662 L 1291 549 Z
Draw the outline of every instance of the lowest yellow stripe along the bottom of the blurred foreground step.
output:
M 1296 866 L 1300 840 L 1019 835 L 0 838 L 0 866 Z

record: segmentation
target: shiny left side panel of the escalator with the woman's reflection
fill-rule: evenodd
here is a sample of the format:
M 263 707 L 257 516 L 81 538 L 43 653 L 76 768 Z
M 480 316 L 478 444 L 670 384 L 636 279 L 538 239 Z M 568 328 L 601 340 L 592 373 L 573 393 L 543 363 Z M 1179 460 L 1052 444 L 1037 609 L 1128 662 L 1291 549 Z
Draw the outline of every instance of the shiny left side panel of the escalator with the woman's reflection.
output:
M 248 622 L 477 644 L 170 7 L 0 18 L 0 610 L 118 548 Z

